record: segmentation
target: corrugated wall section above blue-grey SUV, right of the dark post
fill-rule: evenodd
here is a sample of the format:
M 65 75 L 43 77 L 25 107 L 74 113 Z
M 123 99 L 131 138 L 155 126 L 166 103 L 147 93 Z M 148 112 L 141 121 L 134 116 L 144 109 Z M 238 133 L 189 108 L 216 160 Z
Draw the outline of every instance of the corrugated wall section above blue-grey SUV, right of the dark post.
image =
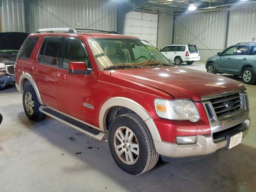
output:
M 230 11 L 227 45 L 256 38 L 256 8 Z

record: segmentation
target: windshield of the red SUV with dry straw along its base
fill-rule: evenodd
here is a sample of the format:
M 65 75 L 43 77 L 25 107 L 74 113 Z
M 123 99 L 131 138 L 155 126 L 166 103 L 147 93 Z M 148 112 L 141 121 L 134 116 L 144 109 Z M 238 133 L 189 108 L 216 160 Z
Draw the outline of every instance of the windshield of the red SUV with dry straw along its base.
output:
M 149 42 L 138 39 L 90 39 L 100 70 L 173 66 Z

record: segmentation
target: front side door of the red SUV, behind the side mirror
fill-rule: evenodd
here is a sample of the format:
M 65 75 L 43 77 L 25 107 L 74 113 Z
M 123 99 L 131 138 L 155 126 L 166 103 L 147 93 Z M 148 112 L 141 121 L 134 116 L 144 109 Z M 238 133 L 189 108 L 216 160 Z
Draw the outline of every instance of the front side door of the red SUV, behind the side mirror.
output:
M 61 112 L 95 125 L 97 70 L 91 75 L 69 74 L 69 62 L 85 62 L 92 68 L 88 47 L 79 38 L 66 38 L 57 69 L 58 108 Z M 91 58 L 92 59 L 92 58 Z

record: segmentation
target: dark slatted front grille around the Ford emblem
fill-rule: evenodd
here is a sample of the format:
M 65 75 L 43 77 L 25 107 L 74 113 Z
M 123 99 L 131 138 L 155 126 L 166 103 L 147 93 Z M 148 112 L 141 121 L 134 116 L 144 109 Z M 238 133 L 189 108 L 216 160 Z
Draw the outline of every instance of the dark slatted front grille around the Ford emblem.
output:
M 223 116 L 227 116 L 238 111 L 242 106 L 240 97 L 241 97 L 240 94 L 236 93 L 228 96 L 222 96 L 222 97 L 210 99 L 210 102 L 212 103 L 216 116 L 218 118 L 221 118 Z M 232 104 L 234 102 L 234 105 L 231 107 L 226 106 L 227 102 L 229 101 L 231 101 L 230 103 Z

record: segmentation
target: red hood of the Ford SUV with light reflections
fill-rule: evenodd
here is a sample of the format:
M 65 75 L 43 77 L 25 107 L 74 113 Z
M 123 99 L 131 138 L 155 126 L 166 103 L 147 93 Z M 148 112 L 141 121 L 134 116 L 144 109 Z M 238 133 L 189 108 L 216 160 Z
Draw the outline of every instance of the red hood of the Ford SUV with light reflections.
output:
M 194 101 L 244 88 L 240 82 L 230 78 L 184 67 L 112 70 L 111 74 L 158 88 L 174 98 Z

